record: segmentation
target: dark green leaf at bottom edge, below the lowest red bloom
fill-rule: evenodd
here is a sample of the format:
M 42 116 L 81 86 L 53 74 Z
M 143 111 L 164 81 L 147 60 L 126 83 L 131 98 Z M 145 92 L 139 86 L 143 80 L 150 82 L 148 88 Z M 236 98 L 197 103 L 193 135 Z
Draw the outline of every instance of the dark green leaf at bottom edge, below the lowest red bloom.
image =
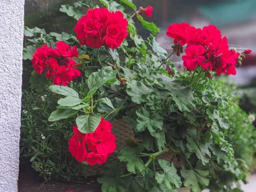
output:
M 102 184 L 102 192 L 127 192 L 126 183 L 120 178 L 124 172 L 121 164 L 108 163 L 106 167 L 103 176 L 97 179 Z

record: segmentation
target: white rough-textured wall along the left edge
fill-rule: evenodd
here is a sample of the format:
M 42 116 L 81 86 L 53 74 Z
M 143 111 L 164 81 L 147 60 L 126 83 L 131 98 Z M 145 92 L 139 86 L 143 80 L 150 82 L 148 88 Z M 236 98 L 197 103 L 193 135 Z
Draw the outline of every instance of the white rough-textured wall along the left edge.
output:
M 18 191 L 24 0 L 0 0 L 0 192 Z

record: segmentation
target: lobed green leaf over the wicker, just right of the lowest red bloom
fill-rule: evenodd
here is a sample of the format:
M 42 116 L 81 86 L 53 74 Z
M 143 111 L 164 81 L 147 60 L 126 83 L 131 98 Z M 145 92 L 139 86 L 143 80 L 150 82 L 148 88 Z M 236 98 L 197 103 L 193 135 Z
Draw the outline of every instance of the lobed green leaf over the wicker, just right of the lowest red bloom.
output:
M 142 145 L 136 148 L 124 147 L 121 148 L 118 158 L 121 162 L 127 162 L 127 170 L 133 172 L 134 174 L 142 172 L 144 169 L 144 164 L 141 158 L 138 156 L 143 152 L 144 147 Z

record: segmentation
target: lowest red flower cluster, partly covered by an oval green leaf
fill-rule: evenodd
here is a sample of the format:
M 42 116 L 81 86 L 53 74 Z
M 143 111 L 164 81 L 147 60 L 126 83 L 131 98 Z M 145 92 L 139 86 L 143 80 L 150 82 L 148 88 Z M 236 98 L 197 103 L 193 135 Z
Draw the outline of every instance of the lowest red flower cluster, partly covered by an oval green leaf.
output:
M 69 139 L 69 151 L 79 162 L 87 162 L 91 166 L 103 164 L 117 148 L 116 137 L 111 133 L 112 124 L 103 118 L 93 133 L 81 133 L 77 126 L 73 127 L 74 135 Z M 87 148 L 86 148 L 87 147 Z

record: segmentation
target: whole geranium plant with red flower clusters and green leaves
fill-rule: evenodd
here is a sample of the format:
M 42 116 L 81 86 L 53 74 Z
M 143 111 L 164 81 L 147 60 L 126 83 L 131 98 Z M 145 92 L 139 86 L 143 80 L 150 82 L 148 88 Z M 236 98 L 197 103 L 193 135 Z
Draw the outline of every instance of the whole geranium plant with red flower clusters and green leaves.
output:
M 59 94 L 49 121 L 74 120 L 63 127 L 73 127 L 68 147 L 73 158 L 106 166 L 98 178 L 102 191 L 241 190 L 247 164 L 227 139 L 232 98 L 213 77 L 235 75 L 249 51 L 230 49 L 215 26 L 182 23 L 167 28 L 174 40 L 168 55 L 156 42 L 159 28 L 146 21 L 152 7 L 100 2 L 101 7 L 90 1 L 61 7 L 77 19 L 74 34 L 25 29 L 32 79 L 44 79 Z M 137 24 L 150 31 L 147 39 L 137 33 Z M 173 54 L 183 54 L 185 71 L 174 69 Z M 127 146 L 117 146 L 113 119 L 133 129 Z M 111 154 L 117 162 L 108 162 Z

